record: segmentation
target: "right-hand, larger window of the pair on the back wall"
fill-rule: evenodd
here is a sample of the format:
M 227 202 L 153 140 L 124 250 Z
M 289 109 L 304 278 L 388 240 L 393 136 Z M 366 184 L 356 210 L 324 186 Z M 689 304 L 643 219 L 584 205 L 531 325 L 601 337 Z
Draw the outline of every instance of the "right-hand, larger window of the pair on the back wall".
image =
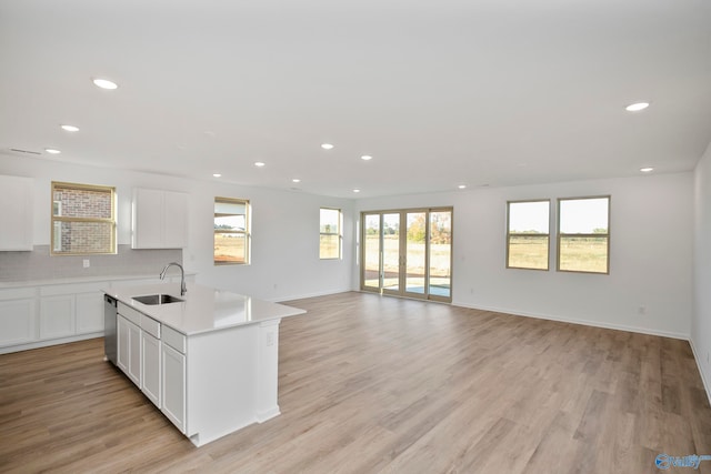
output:
M 610 196 L 558 200 L 558 270 L 610 273 Z

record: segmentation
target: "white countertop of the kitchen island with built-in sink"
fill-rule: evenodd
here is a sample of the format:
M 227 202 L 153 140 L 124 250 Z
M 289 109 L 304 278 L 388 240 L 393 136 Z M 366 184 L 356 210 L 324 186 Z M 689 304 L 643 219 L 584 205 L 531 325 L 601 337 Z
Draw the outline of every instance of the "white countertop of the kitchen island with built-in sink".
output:
M 186 335 L 306 313 L 304 310 L 298 307 L 194 283 L 188 283 L 188 292 L 183 296 L 180 295 L 180 283 L 124 286 L 107 289 L 104 292 Z M 148 294 L 170 294 L 184 301 L 151 305 L 132 299 Z

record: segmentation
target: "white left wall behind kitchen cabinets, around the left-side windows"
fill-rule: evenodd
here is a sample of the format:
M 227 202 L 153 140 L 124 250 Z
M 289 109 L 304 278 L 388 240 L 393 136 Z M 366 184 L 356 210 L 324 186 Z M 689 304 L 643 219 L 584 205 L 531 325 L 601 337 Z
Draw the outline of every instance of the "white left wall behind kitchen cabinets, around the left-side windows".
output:
M 183 263 L 186 270 L 197 272 L 199 283 L 274 301 L 349 291 L 352 286 L 352 200 L 6 154 L 0 154 L 0 174 L 34 178 L 36 245 L 49 244 L 50 240 L 51 181 L 116 186 L 119 244 L 131 243 L 132 188 L 183 191 L 190 194 L 190 235 Z M 251 202 L 251 265 L 212 263 L 213 203 L 218 195 Z M 343 260 L 319 259 L 321 206 L 343 210 Z M 157 268 L 156 275 L 160 271 Z

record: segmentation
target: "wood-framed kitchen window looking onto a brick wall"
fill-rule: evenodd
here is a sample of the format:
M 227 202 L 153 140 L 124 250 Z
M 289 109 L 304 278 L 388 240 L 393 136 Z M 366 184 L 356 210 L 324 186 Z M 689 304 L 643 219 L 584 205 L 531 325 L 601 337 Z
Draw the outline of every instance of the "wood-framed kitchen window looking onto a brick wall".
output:
M 116 189 L 52 182 L 52 255 L 116 253 Z

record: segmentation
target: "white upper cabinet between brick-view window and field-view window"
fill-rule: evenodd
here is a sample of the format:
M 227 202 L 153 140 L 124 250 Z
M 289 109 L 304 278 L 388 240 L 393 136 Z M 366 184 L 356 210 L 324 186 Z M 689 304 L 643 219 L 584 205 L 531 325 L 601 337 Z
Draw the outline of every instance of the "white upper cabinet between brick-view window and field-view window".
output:
M 131 246 L 133 249 L 184 249 L 188 246 L 188 194 L 134 188 Z

